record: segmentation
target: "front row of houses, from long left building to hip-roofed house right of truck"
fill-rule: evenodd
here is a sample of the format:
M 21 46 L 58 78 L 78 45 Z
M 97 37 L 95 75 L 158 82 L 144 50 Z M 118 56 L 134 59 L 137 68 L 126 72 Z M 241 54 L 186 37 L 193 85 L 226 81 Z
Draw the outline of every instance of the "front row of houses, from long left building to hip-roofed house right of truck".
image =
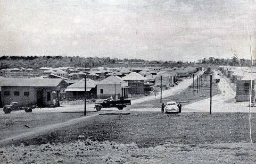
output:
M 99 82 L 81 79 L 71 85 L 61 78 L 2 78 L 1 106 L 17 101 L 21 106 L 37 104 L 39 107 L 58 106 L 62 95 L 66 99 L 87 98 L 104 99 L 113 97 L 128 98 L 128 94 L 143 94 L 147 79 L 135 72 L 126 77 L 109 76 Z

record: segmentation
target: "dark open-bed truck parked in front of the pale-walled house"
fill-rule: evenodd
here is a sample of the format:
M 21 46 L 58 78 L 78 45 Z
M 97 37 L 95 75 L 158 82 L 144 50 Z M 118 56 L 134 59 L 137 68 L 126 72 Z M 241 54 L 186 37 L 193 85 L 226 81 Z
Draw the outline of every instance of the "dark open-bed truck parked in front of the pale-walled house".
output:
M 127 105 L 131 105 L 131 100 L 110 100 L 105 99 L 100 103 L 95 103 L 95 107 L 97 111 L 100 111 L 101 108 L 118 108 L 119 110 L 122 110 Z

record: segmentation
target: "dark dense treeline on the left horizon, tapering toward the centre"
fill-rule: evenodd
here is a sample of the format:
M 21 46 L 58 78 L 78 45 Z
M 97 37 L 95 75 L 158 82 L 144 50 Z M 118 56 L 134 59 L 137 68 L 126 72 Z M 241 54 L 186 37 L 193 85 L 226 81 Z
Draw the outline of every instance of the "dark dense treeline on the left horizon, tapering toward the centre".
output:
M 0 69 L 40 67 L 99 67 L 105 64 L 122 62 L 118 58 L 80 56 L 2 56 Z M 126 59 L 128 62 L 145 62 L 143 59 Z

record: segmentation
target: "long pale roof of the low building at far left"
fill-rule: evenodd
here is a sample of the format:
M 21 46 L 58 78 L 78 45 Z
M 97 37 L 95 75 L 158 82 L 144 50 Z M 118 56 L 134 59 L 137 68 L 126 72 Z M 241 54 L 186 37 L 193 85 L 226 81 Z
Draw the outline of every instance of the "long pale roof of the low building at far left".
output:
M 0 81 L 1 87 L 57 87 L 63 79 L 6 78 Z

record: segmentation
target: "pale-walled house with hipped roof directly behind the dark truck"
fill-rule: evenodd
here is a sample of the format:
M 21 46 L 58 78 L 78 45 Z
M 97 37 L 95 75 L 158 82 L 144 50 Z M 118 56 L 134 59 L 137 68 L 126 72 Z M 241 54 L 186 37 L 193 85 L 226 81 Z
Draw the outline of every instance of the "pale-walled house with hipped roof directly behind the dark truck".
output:
M 109 76 L 97 83 L 97 97 L 99 99 L 110 98 L 119 99 L 128 98 L 128 83 L 118 76 Z

